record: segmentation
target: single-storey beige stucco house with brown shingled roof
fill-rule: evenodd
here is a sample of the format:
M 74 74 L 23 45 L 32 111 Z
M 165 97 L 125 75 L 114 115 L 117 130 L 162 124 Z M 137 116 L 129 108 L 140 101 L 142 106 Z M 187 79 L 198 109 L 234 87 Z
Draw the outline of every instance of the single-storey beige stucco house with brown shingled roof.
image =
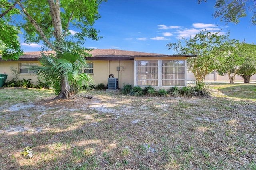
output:
M 191 55 L 163 55 L 118 49 L 94 49 L 86 57 L 88 68 L 85 73 L 90 74 L 95 84 L 107 85 L 108 78 L 116 78 L 116 84 L 122 88 L 124 84 L 133 86 L 151 85 L 156 88 L 169 88 L 172 86 L 186 86 L 186 59 Z M 31 73 L 30 65 L 40 65 L 38 59 L 40 52 L 27 52 L 20 56 L 18 61 L 5 61 L 0 58 L 0 73 L 8 74 L 7 79 L 12 80 L 11 66 L 16 67 L 20 79 L 32 79 L 36 83 L 37 76 Z

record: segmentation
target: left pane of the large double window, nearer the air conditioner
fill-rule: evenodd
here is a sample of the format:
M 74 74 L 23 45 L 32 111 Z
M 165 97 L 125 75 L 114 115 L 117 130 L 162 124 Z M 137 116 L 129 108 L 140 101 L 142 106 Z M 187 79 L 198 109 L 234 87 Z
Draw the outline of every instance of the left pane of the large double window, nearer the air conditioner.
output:
M 137 85 L 158 86 L 158 61 L 136 62 Z

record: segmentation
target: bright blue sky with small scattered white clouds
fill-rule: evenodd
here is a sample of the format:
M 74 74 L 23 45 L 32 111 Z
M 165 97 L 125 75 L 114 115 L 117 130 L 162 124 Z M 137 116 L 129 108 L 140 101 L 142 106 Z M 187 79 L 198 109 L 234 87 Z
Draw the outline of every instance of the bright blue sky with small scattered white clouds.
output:
M 252 13 L 238 24 L 214 19 L 214 0 L 108 0 L 100 5 L 101 18 L 94 25 L 98 41 L 87 39 L 85 47 L 120 49 L 172 55 L 166 44 L 190 38 L 202 29 L 230 32 L 230 38 L 256 44 L 256 26 L 250 26 Z M 79 32 L 70 27 L 70 32 Z M 22 39 L 22 38 L 21 38 Z M 22 40 L 21 40 L 22 41 Z M 42 44 L 25 44 L 25 52 L 39 51 Z

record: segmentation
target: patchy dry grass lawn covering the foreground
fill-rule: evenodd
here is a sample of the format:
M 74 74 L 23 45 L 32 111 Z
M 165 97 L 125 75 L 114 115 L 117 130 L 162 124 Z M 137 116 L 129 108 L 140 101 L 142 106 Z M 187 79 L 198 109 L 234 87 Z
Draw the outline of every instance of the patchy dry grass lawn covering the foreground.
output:
M 208 98 L 54 101 L 50 89 L 2 88 L 0 169 L 255 170 L 256 84 L 210 87 Z

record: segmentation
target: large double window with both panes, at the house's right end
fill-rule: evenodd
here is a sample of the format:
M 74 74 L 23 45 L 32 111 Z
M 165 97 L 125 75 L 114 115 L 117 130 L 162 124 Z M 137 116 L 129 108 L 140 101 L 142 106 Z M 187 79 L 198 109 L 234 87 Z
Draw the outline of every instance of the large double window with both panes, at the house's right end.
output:
M 185 60 L 136 60 L 138 86 L 185 86 Z

